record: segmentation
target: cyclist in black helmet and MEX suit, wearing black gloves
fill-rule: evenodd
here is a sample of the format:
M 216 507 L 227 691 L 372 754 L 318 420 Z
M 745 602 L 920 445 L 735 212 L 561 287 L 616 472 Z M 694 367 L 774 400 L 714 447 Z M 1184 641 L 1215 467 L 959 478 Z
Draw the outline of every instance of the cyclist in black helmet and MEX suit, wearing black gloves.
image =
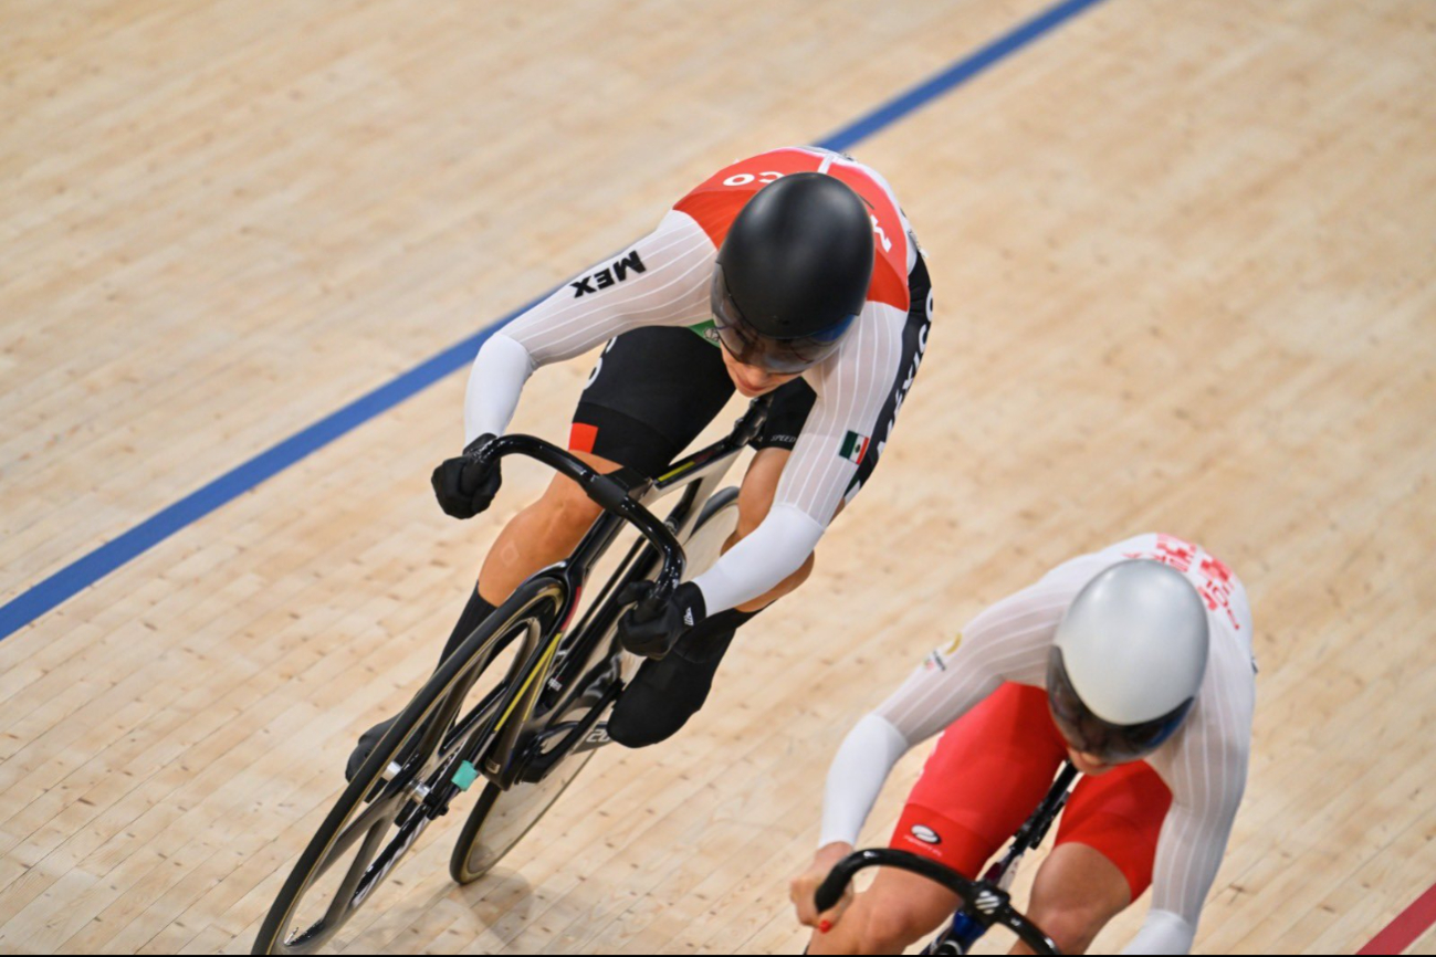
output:
M 639 748 L 702 706 L 734 631 L 797 588 L 837 511 L 877 465 L 931 324 L 931 281 L 887 182 L 852 158 L 785 148 L 735 162 L 679 199 L 648 237 L 516 317 L 480 349 L 465 448 L 434 471 L 444 511 L 472 518 L 500 486 L 475 456 L 504 432 L 538 366 L 609 340 L 569 449 L 603 472 L 656 476 L 737 389 L 773 393 L 719 561 L 619 640 L 648 656 L 609 736 Z M 447 656 L 530 574 L 567 555 L 599 515 L 556 478 L 500 532 Z M 635 600 L 642 594 L 629 595 Z M 672 653 L 669 653 L 672 651 Z M 352 776 L 389 722 L 365 732 Z

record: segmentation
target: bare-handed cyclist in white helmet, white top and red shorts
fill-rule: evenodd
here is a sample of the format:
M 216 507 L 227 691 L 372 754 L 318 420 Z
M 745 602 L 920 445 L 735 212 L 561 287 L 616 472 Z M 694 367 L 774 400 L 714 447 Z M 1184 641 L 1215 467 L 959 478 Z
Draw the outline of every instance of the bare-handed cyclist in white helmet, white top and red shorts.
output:
M 893 848 L 976 878 L 1071 760 L 1084 776 L 1028 917 L 1083 953 L 1150 884 L 1126 953 L 1186 953 L 1245 789 L 1254 706 L 1251 608 L 1221 561 L 1140 535 L 1058 565 L 933 651 L 839 748 L 819 851 L 791 885 L 817 928 L 810 951 L 896 954 L 956 908 L 951 891 L 887 869 L 829 913 L 813 904 L 898 759 L 943 732 Z

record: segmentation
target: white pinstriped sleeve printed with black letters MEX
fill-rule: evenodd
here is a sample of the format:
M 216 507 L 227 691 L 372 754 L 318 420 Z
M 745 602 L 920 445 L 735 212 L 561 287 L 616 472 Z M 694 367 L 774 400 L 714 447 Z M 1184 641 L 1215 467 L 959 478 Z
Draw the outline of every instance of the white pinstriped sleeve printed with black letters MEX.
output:
M 465 440 L 508 428 L 518 393 L 538 366 L 573 359 L 630 329 L 704 321 L 715 255 L 702 227 L 671 209 L 653 232 L 516 317 L 474 359 Z

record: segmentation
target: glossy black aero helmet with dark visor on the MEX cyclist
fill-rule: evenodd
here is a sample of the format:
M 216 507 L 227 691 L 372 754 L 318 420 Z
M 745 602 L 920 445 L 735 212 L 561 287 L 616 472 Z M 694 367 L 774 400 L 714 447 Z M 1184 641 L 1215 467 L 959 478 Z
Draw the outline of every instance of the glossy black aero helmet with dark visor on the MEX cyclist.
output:
M 867 301 L 873 222 L 846 184 L 798 172 L 760 189 L 728 228 L 712 311 L 734 357 L 796 373 L 837 350 Z

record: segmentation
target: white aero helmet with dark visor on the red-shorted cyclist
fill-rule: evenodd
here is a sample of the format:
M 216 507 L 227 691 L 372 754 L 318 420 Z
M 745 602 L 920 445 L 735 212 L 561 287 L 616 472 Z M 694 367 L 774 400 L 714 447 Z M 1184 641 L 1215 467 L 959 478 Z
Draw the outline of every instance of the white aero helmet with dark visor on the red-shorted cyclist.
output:
M 1180 727 L 1206 674 L 1206 603 L 1159 561 L 1111 565 L 1077 593 L 1047 663 L 1053 720 L 1077 750 L 1137 760 Z

